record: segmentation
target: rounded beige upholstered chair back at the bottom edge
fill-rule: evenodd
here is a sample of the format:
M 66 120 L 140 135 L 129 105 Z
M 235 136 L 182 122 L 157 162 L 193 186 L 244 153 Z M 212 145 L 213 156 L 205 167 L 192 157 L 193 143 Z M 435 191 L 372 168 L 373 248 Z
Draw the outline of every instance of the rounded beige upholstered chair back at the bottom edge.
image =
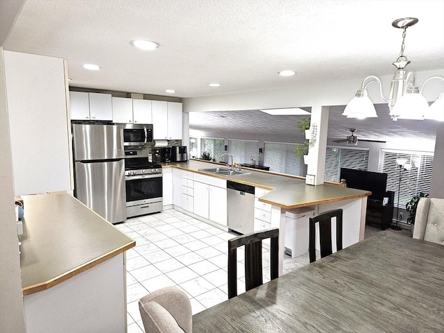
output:
M 162 288 L 139 300 L 146 333 L 191 333 L 193 315 L 187 294 L 178 287 Z

